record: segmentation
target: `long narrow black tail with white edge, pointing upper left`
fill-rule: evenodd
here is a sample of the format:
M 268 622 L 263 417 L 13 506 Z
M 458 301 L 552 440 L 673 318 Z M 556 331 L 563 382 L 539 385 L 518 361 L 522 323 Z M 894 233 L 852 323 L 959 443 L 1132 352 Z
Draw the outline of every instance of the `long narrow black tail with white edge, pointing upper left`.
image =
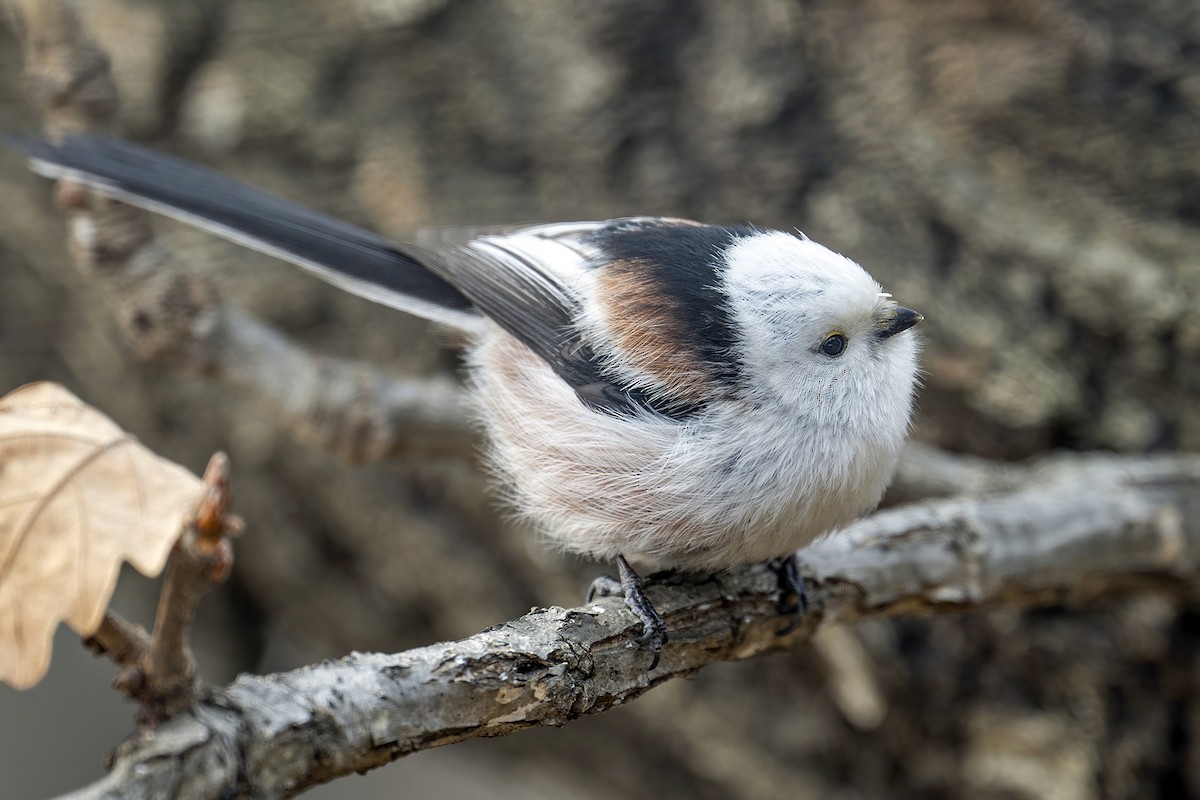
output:
M 480 320 L 457 289 L 385 239 L 198 164 L 98 136 L 8 142 L 41 175 L 209 230 L 367 300 L 456 327 Z

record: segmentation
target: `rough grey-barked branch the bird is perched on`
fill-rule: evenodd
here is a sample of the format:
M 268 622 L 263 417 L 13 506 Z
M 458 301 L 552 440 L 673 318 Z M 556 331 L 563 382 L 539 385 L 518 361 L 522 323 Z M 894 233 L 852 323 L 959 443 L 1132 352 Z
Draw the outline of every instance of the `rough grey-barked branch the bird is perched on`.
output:
M 242 676 L 128 739 L 109 776 L 71 796 L 290 796 L 419 750 L 563 724 L 835 624 L 1194 593 L 1200 458 L 1055 457 L 1025 480 L 881 512 L 808 548 L 814 604 L 787 636 L 762 569 L 660 577 L 649 593 L 671 640 L 653 673 L 619 600 L 535 609 L 461 642 Z

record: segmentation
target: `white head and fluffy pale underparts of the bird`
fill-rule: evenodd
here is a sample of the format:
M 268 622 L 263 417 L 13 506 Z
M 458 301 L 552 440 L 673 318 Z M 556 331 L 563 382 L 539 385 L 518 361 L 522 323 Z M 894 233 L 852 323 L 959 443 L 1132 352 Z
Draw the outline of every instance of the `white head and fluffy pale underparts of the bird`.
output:
M 725 569 L 791 553 L 878 503 L 907 434 L 916 338 L 874 339 L 880 285 L 816 242 L 762 233 L 724 259 L 749 390 L 686 422 L 598 414 L 500 331 L 475 347 L 492 468 L 562 547 Z M 586 296 L 583 324 L 604 348 L 596 305 Z M 817 351 L 833 331 L 850 341 L 839 359 Z

